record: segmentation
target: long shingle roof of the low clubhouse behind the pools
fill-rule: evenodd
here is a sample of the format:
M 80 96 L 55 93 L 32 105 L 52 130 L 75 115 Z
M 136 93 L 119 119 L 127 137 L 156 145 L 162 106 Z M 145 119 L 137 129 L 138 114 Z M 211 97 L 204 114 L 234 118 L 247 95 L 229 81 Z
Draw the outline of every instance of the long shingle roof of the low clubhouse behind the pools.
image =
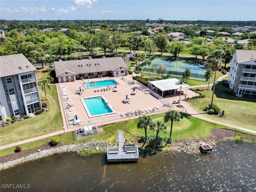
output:
M 55 62 L 54 66 L 57 77 L 63 74 L 65 70 L 75 74 L 114 71 L 120 67 L 128 70 L 121 57 L 61 61 Z

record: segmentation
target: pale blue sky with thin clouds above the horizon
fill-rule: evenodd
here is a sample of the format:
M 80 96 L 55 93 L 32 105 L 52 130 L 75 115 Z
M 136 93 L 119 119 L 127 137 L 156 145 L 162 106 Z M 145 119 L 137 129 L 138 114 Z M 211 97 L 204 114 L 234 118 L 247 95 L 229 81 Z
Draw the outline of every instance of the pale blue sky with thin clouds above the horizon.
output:
M 1 0 L 5 20 L 256 20 L 256 0 Z

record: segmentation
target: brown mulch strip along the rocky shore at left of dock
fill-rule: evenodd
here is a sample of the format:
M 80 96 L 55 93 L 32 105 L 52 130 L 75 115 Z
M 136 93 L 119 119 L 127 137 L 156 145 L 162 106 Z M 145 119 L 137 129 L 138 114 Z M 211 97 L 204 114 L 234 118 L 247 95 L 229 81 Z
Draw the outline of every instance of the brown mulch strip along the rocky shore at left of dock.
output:
M 34 149 L 21 150 L 20 152 L 17 152 L 17 153 L 13 153 L 13 154 L 6 155 L 6 156 L 1 156 L 0 163 L 4 163 L 4 162 L 8 162 L 8 161 L 12 161 L 12 160 L 16 160 L 16 159 L 19 159 L 22 157 L 29 156 L 30 154 L 36 153 L 38 150 L 52 149 L 52 148 L 57 148 L 57 147 L 60 147 L 63 145 L 64 144 L 62 142 L 59 142 L 57 145 L 52 146 L 52 143 L 50 141 L 48 141 L 45 144 L 43 144 L 37 148 L 34 148 Z

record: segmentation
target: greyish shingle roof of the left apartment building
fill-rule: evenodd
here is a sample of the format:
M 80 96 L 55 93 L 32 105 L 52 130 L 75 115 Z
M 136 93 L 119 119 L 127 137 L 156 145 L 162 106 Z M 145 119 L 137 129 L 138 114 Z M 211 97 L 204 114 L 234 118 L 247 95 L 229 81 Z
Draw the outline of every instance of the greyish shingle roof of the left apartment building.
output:
M 26 66 L 28 66 L 28 68 Z M 21 67 L 22 70 L 18 67 Z M 36 71 L 36 68 L 23 54 L 0 56 L 0 77 L 34 71 Z

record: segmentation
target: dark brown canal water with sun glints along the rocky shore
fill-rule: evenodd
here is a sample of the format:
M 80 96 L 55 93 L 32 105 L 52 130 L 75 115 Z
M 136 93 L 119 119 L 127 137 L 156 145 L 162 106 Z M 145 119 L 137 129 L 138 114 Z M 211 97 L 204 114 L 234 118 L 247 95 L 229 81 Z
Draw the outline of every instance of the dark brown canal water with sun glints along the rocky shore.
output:
M 104 155 L 62 154 L 1 172 L 1 192 L 253 192 L 256 144 L 218 143 L 212 154 L 141 155 L 106 164 Z M 30 189 L 4 189 L 25 184 Z

